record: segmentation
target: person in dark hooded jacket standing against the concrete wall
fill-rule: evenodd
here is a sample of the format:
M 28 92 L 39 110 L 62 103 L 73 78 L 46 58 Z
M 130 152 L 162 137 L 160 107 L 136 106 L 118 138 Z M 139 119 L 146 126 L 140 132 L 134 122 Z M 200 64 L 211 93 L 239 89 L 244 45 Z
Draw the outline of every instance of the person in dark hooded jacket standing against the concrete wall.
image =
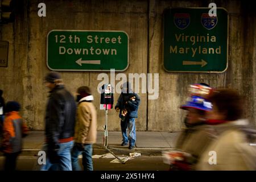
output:
M 127 146 L 129 142 L 129 149 L 133 149 L 136 142 L 136 129 L 135 118 L 138 118 L 138 109 L 141 99 L 137 93 L 134 93 L 131 89 L 130 82 L 125 82 L 122 85 L 122 93 L 120 94 L 115 110 L 119 112 L 119 118 L 121 118 L 121 131 L 122 131 L 122 144 L 121 146 Z M 129 135 L 127 137 L 127 129 L 129 129 Z

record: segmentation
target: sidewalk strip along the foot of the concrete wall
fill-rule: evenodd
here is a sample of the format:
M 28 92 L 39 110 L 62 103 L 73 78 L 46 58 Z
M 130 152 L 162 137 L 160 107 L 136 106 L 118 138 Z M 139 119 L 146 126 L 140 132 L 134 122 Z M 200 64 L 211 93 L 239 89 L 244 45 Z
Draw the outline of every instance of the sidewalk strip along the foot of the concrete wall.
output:
M 108 148 L 115 154 L 129 154 L 129 152 L 140 152 L 144 155 L 161 155 L 162 151 L 174 147 L 178 133 L 137 131 L 136 147 L 129 150 L 128 146 L 122 147 L 121 131 L 108 132 Z M 104 131 L 98 131 L 97 142 L 93 146 L 93 155 L 106 154 L 109 151 L 104 148 Z M 44 143 L 44 131 L 30 131 L 23 140 L 22 155 L 37 156 L 42 150 Z M 2 155 L 2 153 L 0 154 Z

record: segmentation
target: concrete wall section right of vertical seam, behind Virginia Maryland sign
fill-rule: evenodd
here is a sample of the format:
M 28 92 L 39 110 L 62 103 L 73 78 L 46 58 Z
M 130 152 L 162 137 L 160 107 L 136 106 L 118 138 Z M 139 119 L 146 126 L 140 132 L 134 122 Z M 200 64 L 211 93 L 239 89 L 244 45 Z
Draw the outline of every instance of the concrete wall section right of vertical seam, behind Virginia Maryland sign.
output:
M 149 72 L 159 73 L 160 91 L 158 101 L 148 101 L 148 130 L 179 130 L 184 111 L 177 108 L 185 103 L 187 85 L 196 82 L 206 82 L 214 88 L 237 89 L 245 96 L 245 117 L 255 123 L 256 16 L 253 6 L 250 2 L 241 3 L 242 1 L 214 2 L 218 7 L 228 10 L 229 14 L 228 70 L 224 73 L 167 73 L 161 65 L 163 10 L 166 7 L 207 7 L 209 2 L 151 1 L 148 67 Z

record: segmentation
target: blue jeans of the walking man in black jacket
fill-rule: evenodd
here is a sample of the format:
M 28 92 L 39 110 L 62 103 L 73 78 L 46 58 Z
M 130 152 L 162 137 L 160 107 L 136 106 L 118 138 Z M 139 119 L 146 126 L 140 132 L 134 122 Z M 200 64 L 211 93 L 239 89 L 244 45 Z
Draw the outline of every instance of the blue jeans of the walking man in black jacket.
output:
M 60 163 L 52 164 L 46 156 L 46 164 L 41 167 L 41 171 L 48 171 L 50 168 L 53 171 L 72 171 L 71 165 L 71 149 L 73 141 L 60 143 L 60 149 L 57 154 L 60 156 Z M 44 146 L 44 151 L 47 151 L 47 144 Z

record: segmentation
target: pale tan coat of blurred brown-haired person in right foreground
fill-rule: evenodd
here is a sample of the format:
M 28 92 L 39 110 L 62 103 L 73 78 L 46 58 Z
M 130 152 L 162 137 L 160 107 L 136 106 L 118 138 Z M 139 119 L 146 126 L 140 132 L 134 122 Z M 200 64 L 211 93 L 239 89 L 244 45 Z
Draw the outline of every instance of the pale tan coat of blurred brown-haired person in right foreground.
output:
M 243 150 L 243 148 L 251 146 L 246 140 L 245 133 L 235 127 L 236 125 L 237 123 L 233 121 L 214 126 L 219 137 L 205 150 L 201 160 L 197 163 L 197 170 L 233 171 L 251 169 L 246 160 L 250 155 L 245 154 Z M 210 151 L 216 152 L 217 164 L 209 164 Z M 210 161 L 213 162 L 212 159 Z

